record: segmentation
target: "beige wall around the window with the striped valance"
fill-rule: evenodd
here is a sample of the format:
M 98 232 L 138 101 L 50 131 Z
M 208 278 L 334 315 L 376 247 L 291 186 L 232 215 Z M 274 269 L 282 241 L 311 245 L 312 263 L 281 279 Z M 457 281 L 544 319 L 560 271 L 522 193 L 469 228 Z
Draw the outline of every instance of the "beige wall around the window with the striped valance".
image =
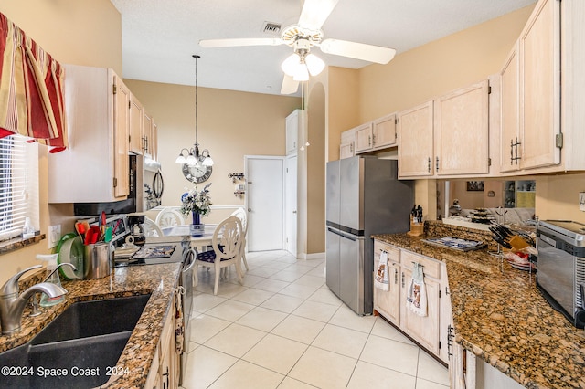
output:
M 109 0 L 3 0 L 0 12 L 61 63 L 114 68 L 122 74 L 122 18 Z M 47 204 L 47 148 L 39 146 L 40 227 L 73 229 L 72 206 Z M 47 240 L 0 256 L 0 285 L 16 271 L 39 264 Z

